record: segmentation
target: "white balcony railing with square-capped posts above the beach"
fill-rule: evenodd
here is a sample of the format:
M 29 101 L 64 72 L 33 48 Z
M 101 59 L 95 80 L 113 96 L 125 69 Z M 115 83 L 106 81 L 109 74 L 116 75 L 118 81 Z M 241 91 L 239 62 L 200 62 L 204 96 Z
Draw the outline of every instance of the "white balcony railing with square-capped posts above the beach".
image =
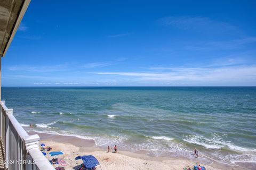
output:
M 39 136 L 28 135 L 1 101 L 1 142 L 5 169 L 51 170 L 54 167 L 39 149 Z

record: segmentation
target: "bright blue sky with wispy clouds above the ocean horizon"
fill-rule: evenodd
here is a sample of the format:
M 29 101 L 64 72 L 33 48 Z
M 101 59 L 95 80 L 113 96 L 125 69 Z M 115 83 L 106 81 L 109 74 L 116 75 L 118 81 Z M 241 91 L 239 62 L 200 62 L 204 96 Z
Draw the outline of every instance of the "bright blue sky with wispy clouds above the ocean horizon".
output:
M 256 1 L 32 0 L 2 86 L 256 86 Z

